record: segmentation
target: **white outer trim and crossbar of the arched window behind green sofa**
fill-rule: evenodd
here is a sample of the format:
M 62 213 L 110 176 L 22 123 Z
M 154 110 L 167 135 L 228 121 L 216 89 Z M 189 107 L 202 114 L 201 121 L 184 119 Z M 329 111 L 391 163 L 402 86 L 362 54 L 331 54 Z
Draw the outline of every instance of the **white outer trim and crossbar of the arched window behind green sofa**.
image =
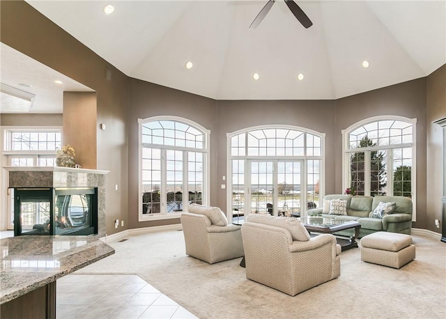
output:
M 376 122 L 377 120 L 401 120 L 406 123 L 412 124 L 412 143 L 403 143 L 396 144 L 398 147 L 412 147 L 412 170 L 411 170 L 411 180 L 412 180 L 412 221 L 417 221 L 417 119 L 416 118 L 406 118 L 404 116 L 395 116 L 395 115 L 380 115 L 373 116 L 371 118 L 365 118 L 364 120 L 360 120 L 353 125 L 350 125 L 345 130 L 341 130 L 342 134 L 342 189 L 346 189 L 349 187 L 349 165 L 350 163 L 347 161 L 347 154 L 351 153 L 353 150 L 347 148 L 348 145 L 348 133 L 352 130 L 360 127 L 362 125 L 366 125 L 367 123 Z M 394 146 L 377 146 L 371 148 L 364 148 L 364 150 L 376 150 L 376 149 L 390 149 L 395 148 Z M 362 148 L 361 148 L 362 150 Z M 357 149 L 355 150 L 357 151 Z M 414 196 L 415 195 L 415 196 Z

